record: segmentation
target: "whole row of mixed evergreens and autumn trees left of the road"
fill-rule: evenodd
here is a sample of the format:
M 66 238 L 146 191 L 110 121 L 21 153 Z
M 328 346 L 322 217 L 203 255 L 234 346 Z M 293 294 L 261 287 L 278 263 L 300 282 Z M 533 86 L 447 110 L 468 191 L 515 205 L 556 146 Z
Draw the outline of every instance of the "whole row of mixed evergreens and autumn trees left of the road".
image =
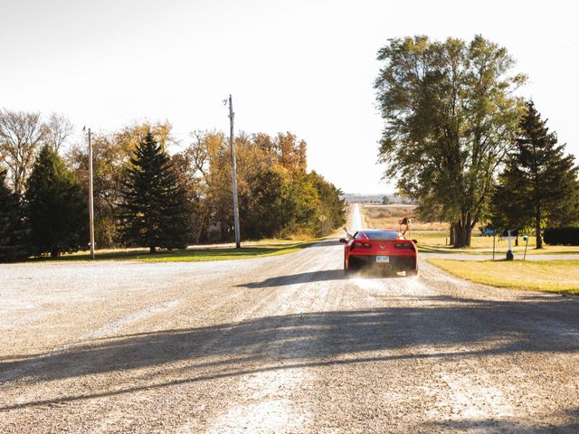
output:
M 0 260 L 87 249 L 88 148 L 65 150 L 71 132 L 62 116 L 0 111 Z M 345 222 L 342 192 L 308 172 L 304 140 L 242 133 L 235 146 L 242 240 L 320 237 Z M 97 248 L 233 240 L 222 132 L 196 131 L 184 148 L 168 122 L 135 123 L 93 134 L 92 147 Z

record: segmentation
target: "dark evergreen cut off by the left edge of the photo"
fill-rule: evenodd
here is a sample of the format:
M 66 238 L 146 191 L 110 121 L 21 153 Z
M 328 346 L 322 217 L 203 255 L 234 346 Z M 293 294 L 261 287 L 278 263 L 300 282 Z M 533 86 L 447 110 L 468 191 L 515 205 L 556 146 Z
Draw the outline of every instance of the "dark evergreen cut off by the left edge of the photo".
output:
M 0 169 L 0 262 L 28 256 L 27 231 L 20 200 L 5 185 L 6 171 Z

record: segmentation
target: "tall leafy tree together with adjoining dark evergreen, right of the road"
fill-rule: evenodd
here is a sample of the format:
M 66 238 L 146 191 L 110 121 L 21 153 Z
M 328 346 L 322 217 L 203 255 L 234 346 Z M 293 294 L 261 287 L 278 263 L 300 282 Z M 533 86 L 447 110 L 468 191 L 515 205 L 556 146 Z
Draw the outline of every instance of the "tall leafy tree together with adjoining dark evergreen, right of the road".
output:
M 419 203 L 426 221 L 449 222 L 454 247 L 476 226 L 532 228 L 537 248 L 549 227 L 579 224 L 579 181 L 533 101 L 517 97 L 527 76 L 507 49 L 470 42 L 397 38 L 377 56 L 384 118 L 384 177 Z

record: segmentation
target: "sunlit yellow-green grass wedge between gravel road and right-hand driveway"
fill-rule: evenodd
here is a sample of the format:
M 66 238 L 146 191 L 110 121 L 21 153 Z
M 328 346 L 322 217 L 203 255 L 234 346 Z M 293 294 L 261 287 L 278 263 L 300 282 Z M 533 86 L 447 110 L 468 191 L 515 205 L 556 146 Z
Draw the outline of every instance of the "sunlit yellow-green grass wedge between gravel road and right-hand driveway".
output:
M 427 259 L 432 265 L 472 282 L 501 288 L 579 295 L 579 260 Z

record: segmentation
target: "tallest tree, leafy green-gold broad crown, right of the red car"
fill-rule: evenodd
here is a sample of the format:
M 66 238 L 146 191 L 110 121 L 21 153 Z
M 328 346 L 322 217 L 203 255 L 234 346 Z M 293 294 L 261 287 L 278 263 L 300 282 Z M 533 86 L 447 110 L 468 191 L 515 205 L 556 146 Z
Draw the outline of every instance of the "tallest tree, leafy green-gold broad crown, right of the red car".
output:
M 469 246 L 513 143 L 522 104 L 512 92 L 525 76 L 511 73 L 505 48 L 481 36 L 394 39 L 378 60 L 384 176 L 413 199 L 440 203 L 439 215 L 454 222 L 454 246 Z

